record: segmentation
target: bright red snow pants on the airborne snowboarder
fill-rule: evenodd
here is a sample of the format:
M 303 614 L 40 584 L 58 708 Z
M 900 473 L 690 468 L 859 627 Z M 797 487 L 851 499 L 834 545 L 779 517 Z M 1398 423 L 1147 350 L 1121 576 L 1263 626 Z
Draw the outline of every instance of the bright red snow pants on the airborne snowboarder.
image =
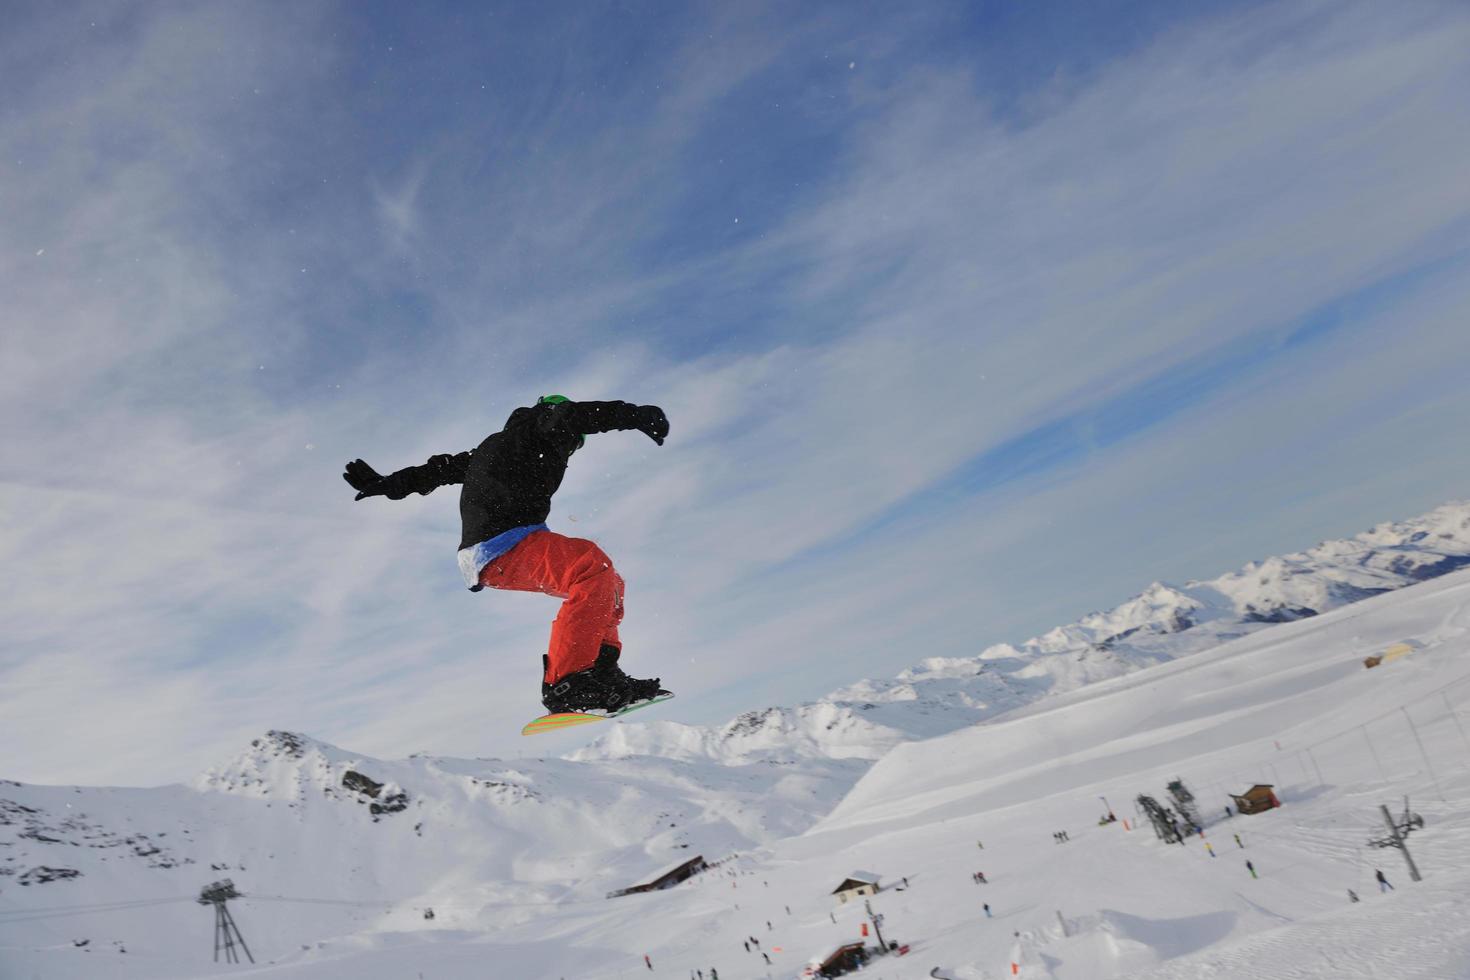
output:
M 623 577 L 591 541 L 537 530 L 481 569 L 479 583 L 563 599 L 551 621 L 545 683 L 591 667 L 603 644 L 622 649 L 617 624 L 623 621 Z

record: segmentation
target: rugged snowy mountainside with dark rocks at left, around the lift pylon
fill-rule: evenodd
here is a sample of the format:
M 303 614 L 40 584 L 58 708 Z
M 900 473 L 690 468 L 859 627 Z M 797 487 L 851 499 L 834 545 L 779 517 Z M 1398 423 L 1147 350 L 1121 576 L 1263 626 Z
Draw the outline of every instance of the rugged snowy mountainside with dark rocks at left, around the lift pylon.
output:
M 198 939 L 190 954 L 212 952 L 212 920 L 191 899 L 222 877 L 276 896 L 253 917 L 276 951 L 369 923 L 415 930 L 425 908 L 437 929 L 476 930 L 529 908 L 600 905 L 695 854 L 716 861 L 797 833 L 861 765 L 388 763 L 270 732 L 193 786 L 4 783 L 0 962 L 16 942 L 74 949 L 90 939 L 84 952 L 125 948 L 128 964 L 144 964 L 140 976 L 169 976 L 179 936 Z M 140 905 L 54 918 L 24 911 L 98 902 Z

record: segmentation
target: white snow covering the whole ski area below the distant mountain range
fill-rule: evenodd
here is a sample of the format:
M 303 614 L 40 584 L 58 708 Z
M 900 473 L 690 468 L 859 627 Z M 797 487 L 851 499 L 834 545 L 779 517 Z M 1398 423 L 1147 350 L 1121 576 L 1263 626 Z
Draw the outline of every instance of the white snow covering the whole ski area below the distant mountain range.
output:
M 870 902 L 883 936 L 910 951 L 861 977 L 1470 977 L 1467 630 L 1470 572 L 1457 572 L 828 770 L 375 763 L 265 741 L 196 788 L 0 785 L 0 830 L 24 826 L 25 807 L 54 837 L 0 836 L 0 861 L 22 846 L 54 852 L 54 867 L 91 861 L 72 880 L 19 886 L 15 865 L 0 877 L 0 976 L 798 977 L 861 939 L 863 902 L 831 892 L 863 868 L 882 876 Z M 1401 641 L 1417 645 L 1364 669 Z M 407 789 L 409 810 L 375 823 L 360 799 L 323 804 L 313 788 L 353 765 L 385 783 L 378 799 Z M 1135 798 L 1172 805 L 1175 777 L 1198 798 L 1204 839 L 1166 845 L 1138 824 Z M 1252 783 L 1283 805 L 1226 818 L 1226 793 Z M 1386 835 L 1379 807 L 1396 817 L 1405 795 L 1424 818 L 1408 837 L 1419 883 L 1401 852 L 1367 846 Z M 1102 798 L 1122 820 L 1098 826 Z M 88 815 L 62 827 L 69 799 Z M 106 843 L 126 829 L 148 836 Z M 141 860 L 159 867 L 140 871 L 140 848 L 157 848 Z M 226 852 L 228 867 L 200 862 Z M 664 892 L 601 898 L 697 852 L 729 860 Z M 191 898 L 222 877 L 245 893 L 231 909 L 253 967 L 210 959 L 213 912 Z M 100 902 L 118 905 L 76 908 Z

